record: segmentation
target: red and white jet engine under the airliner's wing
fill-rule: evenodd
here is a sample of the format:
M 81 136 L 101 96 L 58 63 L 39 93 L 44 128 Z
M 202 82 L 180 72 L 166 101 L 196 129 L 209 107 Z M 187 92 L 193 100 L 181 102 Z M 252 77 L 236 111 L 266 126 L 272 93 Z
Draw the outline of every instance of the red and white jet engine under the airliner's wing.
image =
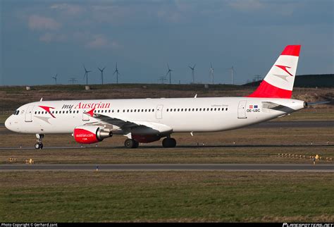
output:
M 107 137 L 113 136 L 110 131 L 94 125 L 82 125 L 74 129 L 73 137 L 76 142 L 81 144 L 91 144 L 101 142 Z

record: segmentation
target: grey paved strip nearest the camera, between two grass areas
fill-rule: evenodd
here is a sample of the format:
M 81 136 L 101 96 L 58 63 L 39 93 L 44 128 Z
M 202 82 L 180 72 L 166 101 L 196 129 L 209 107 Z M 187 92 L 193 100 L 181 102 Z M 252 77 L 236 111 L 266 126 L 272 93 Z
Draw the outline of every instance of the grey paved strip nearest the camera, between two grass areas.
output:
M 0 171 L 278 171 L 334 172 L 333 164 L 1 164 Z

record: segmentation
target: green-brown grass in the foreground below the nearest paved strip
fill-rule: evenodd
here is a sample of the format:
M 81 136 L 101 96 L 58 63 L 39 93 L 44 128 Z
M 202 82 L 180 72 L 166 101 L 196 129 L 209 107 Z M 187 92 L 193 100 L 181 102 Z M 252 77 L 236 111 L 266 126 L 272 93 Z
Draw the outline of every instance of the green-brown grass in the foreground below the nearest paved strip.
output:
M 334 221 L 333 173 L 1 173 L 4 222 Z

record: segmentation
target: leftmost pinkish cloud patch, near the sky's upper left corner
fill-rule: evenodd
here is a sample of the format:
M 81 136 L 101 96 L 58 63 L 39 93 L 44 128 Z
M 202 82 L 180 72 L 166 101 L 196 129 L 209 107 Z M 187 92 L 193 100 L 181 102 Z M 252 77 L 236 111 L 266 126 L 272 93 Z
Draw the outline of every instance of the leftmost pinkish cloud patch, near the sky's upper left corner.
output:
M 58 30 L 61 27 L 61 23 L 56 22 L 52 18 L 32 15 L 28 18 L 28 27 L 31 30 Z

